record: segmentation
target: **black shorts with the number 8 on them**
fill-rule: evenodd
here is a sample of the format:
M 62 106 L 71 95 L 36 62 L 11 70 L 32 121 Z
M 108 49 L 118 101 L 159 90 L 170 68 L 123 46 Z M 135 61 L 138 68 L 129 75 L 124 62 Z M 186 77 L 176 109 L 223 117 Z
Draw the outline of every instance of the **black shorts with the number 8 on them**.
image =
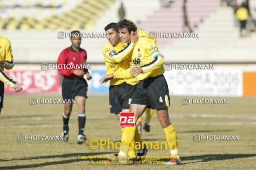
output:
M 109 107 L 111 113 L 119 113 L 122 109 L 129 109 L 136 85 L 123 82 L 109 86 Z

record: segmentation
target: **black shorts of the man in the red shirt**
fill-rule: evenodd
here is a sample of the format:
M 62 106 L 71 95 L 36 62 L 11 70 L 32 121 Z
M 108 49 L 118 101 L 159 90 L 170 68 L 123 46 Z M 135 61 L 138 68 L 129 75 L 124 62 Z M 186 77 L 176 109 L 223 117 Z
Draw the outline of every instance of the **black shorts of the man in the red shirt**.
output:
M 62 98 L 74 99 L 75 96 L 87 98 L 88 84 L 84 78 L 63 78 L 62 81 Z

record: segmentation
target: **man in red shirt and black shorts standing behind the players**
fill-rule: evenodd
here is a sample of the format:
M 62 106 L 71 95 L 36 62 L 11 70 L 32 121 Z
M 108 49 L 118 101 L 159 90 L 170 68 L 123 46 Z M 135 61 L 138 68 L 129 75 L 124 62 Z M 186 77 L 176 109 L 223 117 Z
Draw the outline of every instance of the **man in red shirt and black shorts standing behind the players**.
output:
M 79 35 L 79 36 L 76 36 Z M 57 64 L 70 64 L 75 65 L 77 68 L 81 68 L 82 64 L 85 64 L 87 59 L 86 50 L 80 48 L 81 36 L 78 30 L 74 30 L 70 35 L 71 46 L 61 51 Z M 79 66 L 80 65 L 80 66 Z M 59 67 L 58 67 L 59 68 Z M 87 98 L 88 84 L 83 78 L 84 74 L 87 79 L 91 78 L 87 69 L 58 69 L 58 72 L 64 76 L 62 81 L 62 97 L 66 100 L 75 99 L 78 110 L 78 136 L 77 143 L 81 144 L 87 140 L 84 135 L 84 126 L 86 121 L 85 114 L 85 99 Z M 72 111 L 72 103 L 64 103 L 63 117 L 63 130 L 62 135 L 64 141 L 68 141 L 68 121 Z

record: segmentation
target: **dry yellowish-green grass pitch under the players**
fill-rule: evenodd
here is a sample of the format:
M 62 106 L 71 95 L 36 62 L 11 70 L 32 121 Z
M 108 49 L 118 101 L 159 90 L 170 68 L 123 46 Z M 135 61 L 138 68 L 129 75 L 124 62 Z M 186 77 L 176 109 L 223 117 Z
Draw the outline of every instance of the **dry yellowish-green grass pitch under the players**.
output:
M 44 169 L 166 169 L 170 167 L 165 164 L 91 164 L 90 159 L 78 158 L 78 155 L 107 155 L 118 151 L 106 147 L 91 149 L 88 144 L 89 140 L 94 138 L 109 138 L 113 142 L 121 138 L 118 121 L 109 113 L 107 95 L 89 95 L 86 101 L 85 134 L 88 139 L 86 143 L 76 144 L 78 133 L 76 106 L 73 107 L 69 121 L 68 142 L 18 141 L 19 134 L 60 135 L 62 130 L 63 105 L 30 105 L 31 97 L 60 98 L 60 96 L 46 95 L 5 95 L 4 108 L 0 116 L 0 169 L 38 167 Z M 181 96 L 171 96 L 172 105 L 169 107 L 169 115 L 177 131 L 179 152 L 183 161 L 183 165 L 172 166 L 172 168 L 253 169 L 256 167 L 256 97 L 229 97 L 228 104 L 190 105 L 182 105 L 181 98 Z M 195 134 L 239 135 L 239 140 L 193 141 Z M 166 141 L 164 130 L 156 114 L 151 120 L 151 131 L 143 131 L 142 138 L 144 141 Z M 150 149 L 148 155 L 169 155 L 169 153 L 169 149 Z

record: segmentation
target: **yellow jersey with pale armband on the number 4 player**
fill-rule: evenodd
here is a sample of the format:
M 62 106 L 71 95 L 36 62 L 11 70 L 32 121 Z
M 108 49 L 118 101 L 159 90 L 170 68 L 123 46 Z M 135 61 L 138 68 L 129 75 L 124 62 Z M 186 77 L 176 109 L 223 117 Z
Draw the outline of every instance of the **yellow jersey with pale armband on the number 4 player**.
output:
M 130 70 L 133 67 L 142 67 L 143 73 L 136 78 L 138 80 L 147 79 L 164 73 L 164 60 L 158 52 L 157 44 L 148 37 L 140 37 L 135 43 L 134 49 L 130 50 L 132 58 L 131 68 L 124 71 L 115 71 L 114 78 L 131 78 Z

